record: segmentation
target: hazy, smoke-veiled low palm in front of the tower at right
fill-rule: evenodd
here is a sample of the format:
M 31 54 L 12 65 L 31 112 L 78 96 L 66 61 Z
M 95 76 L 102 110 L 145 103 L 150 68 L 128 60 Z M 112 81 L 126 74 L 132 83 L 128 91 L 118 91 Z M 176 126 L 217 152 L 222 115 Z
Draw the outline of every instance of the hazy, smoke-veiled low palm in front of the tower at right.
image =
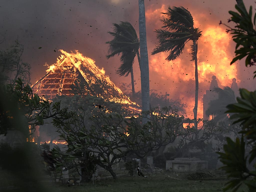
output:
M 208 116 L 213 114 L 214 120 L 218 122 L 227 117 L 227 105 L 236 103 L 236 96 L 230 87 L 214 88 L 213 91 L 218 93 L 218 99 L 210 101 L 206 114 Z

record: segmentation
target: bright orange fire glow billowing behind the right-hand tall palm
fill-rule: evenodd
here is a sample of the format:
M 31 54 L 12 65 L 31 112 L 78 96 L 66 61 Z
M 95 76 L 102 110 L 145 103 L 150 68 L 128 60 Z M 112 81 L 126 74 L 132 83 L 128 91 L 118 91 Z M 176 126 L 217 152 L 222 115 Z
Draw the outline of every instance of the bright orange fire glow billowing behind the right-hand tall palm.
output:
M 153 25 L 151 28 L 160 29 L 162 22 L 159 16 L 161 12 L 166 12 L 167 5 L 162 5 L 161 8 L 155 9 L 153 6 L 146 10 L 146 21 Z M 232 79 L 237 77 L 236 65 L 230 66 L 233 51 L 230 51 L 232 38 L 230 34 L 225 32 L 225 29 L 214 23 L 200 23 L 205 20 L 206 15 L 203 13 L 193 12 L 189 10 L 194 18 L 194 26 L 202 30 L 202 37 L 198 40 L 198 78 L 199 78 L 199 93 L 198 93 L 198 118 L 203 116 L 202 97 L 206 90 L 209 90 L 212 76 L 217 77 L 218 86 L 220 88 L 231 86 Z M 156 36 L 156 33 L 154 34 Z M 157 39 L 155 40 L 157 42 Z M 159 53 L 154 56 L 149 55 L 150 63 L 150 89 L 162 90 L 168 92 L 170 98 L 181 99 L 187 103 L 189 108 L 186 109 L 187 118 L 193 118 L 193 108 L 195 106 L 195 64 L 191 60 L 190 45 L 188 42 L 185 45 L 183 54 L 174 61 L 167 61 L 166 52 Z M 155 43 L 148 43 L 148 49 L 153 50 Z

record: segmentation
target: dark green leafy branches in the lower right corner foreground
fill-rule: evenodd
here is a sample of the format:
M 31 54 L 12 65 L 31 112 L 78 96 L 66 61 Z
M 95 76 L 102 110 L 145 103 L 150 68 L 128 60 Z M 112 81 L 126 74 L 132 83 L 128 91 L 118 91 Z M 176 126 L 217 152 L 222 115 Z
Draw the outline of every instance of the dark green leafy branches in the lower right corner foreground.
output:
M 241 124 L 242 130 L 239 132 L 242 134 L 241 140 L 237 138 L 234 142 L 227 137 L 227 144 L 223 146 L 225 153 L 218 153 L 220 161 L 224 164 L 221 169 L 232 178 L 227 183 L 225 191 L 228 189 L 237 191 L 241 184 L 246 184 L 250 191 L 256 190 L 256 91 L 240 89 L 240 95 L 241 98 L 237 98 L 237 103 L 227 106 L 227 113 L 231 114 L 230 119 L 234 120 L 234 124 Z M 252 168 L 248 168 L 248 158 Z

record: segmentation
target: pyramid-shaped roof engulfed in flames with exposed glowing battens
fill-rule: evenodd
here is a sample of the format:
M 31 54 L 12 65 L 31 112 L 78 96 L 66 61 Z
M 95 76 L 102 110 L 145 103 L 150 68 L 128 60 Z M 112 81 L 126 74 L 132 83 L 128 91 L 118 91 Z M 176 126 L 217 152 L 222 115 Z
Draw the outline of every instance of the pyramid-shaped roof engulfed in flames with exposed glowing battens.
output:
M 139 105 L 132 102 L 115 84 L 105 75 L 104 69 L 95 65 L 91 58 L 81 53 L 62 53 L 57 62 L 48 67 L 47 74 L 37 81 L 33 88 L 34 93 L 49 99 L 56 95 L 74 95 L 72 85 L 76 82 L 84 85 L 84 93 L 108 99 L 116 103 L 128 104 L 132 111 L 140 111 Z

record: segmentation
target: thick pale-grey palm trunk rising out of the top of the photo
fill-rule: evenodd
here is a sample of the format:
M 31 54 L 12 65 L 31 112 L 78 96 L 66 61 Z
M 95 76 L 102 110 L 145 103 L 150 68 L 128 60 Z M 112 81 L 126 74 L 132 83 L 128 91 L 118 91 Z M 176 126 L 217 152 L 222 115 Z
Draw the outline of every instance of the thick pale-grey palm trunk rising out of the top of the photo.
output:
M 144 0 L 139 0 L 139 31 L 140 31 L 140 66 L 141 66 L 141 97 L 142 111 L 148 111 L 149 108 L 149 68 L 146 38 L 146 18 Z M 147 122 L 147 118 L 142 119 L 142 124 Z

